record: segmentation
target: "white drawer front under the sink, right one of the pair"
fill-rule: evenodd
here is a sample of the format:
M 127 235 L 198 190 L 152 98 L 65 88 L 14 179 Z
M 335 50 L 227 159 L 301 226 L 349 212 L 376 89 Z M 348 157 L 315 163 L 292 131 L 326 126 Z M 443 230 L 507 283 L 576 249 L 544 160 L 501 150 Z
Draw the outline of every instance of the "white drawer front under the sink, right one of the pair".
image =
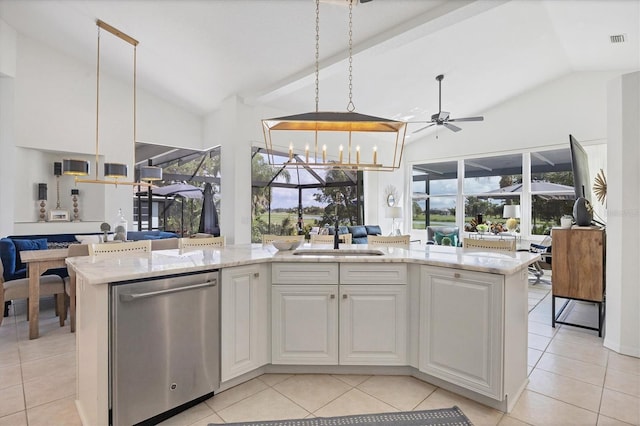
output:
M 342 263 L 340 284 L 406 284 L 406 263 Z

